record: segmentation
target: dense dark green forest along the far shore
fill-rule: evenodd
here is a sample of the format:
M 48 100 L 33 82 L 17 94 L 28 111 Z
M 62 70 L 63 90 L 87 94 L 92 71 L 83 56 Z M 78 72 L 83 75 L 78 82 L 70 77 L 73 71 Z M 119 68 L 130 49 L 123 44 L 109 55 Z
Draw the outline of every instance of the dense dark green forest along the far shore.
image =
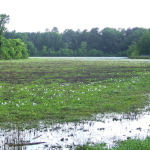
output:
M 92 28 L 90 31 L 54 27 L 44 33 L 5 32 L 7 39 L 21 39 L 29 56 L 138 56 L 150 55 L 150 30 L 144 28 Z

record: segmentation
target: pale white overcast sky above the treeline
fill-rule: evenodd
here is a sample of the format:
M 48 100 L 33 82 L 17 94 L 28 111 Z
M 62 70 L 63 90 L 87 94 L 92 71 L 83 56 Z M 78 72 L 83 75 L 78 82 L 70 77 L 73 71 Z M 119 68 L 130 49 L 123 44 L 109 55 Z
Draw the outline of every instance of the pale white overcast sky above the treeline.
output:
M 150 28 L 150 0 L 0 0 L 0 14 L 10 16 L 9 31 Z

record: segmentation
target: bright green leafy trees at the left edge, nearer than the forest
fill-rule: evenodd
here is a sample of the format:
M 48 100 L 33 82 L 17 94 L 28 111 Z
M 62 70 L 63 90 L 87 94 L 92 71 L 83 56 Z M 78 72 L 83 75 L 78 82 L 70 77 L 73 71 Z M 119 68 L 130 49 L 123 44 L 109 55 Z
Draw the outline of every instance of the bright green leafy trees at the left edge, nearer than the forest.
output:
M 8 22 L 9 16 L 0 14 L 0 59 L 28 58 L 27 46 L 21 39 L 6 39 L 2 36 L 2 33 L 6 30 L 5 24 Z M 25 40 L 25 36 L 23 36 L 23 40 Z

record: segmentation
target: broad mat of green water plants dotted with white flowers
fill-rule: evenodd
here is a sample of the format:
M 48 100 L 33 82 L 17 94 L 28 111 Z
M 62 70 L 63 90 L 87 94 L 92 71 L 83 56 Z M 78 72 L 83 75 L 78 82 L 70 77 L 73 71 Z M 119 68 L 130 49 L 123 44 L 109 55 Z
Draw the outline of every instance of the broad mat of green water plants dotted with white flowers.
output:
M 150 93 L 150 61 L 30 58 L 0 61 L 0 70 L 1 123 L 137 111 Z

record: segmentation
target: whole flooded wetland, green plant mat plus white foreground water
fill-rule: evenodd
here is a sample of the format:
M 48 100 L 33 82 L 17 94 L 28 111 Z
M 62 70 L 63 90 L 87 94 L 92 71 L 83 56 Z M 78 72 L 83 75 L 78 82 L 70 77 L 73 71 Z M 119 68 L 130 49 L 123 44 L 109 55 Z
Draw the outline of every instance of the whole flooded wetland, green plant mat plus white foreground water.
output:
M 150 61 L 80 59 L 0 62 L 0 149 L 111 148 L 150 136 L 150 108 L 142 109 L 149 105 Z

